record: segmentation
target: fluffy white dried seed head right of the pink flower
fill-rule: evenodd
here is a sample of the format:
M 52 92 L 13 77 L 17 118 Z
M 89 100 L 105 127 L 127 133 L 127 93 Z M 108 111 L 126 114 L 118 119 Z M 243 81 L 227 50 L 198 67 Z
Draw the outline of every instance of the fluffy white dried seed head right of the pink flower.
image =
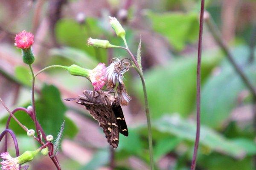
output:
M 123 74 L 129 70 L 130 63 L 120 61 L 118 58 L 113 58 L 111 60 L 111 65 L 107 67 L 106 77 L 107 82 L 106 85 L 108 88 L 116 87 L 116 82 L 119 84 L 123 83 Z

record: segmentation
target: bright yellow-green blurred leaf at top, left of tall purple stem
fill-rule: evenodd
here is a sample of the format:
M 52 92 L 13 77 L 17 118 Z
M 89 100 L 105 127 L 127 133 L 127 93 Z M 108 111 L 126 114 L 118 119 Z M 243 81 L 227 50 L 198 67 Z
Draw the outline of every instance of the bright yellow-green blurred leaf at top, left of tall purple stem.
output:
M 186 42 L 195 42 L 198 38 L 198 13 L 156 14 L 148 11 L 147 16 L 154 31 L 167 37 L 176 50 L 182 50 Z

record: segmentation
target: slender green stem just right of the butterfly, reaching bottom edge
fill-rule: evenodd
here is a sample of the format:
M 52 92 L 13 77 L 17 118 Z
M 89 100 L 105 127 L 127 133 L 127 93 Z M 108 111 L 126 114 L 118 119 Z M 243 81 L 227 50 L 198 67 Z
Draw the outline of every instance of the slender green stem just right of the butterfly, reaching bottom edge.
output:
M 144 101 L 145 101 L 145 113 L 147 117 L 147 124 L 148 124 L 148 147 L 149 147 L 149 156 L 150 156 L 150 166 L 151 170 L 154 170 L 154 159 L 153 159 L 153 142 L 152 142 L 152 132 L 151 132 L 151 121 L 150 121 L 150 114 L 149 114 L 149 106 L 148 106 L 148 96 L 146 91 L 145 79 L 143 77 L 143 72 L 140 71 L 140 68 L 135 67 L 135 70 L 140 76 L 142 86 L 143 86 L 143 93 L 144 93 Z

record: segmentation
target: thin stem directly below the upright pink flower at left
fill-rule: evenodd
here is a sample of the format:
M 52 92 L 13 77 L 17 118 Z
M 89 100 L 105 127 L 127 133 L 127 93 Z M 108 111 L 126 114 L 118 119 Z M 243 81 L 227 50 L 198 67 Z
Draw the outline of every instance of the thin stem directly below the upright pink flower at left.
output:
M 33 118 L 34 118 L 34 122 L 35 122 L 36 133 L 38 135 L 39 142 L 41 142 L 42 139 L 41 139 L 40 132 L 39 132 L 39 129 L 38 129 L 38 121 L 36 119 L 36 113 L 35 113 L 35 75 L 34 75 L 34 71 L 33 71 L 33 68 L 32 68 L 31 65 L 29 65 L 29 68 L 30 68 L 30 71 L 31 71 L 31 74 L 32 74 L 32 91 L 31 91 L 31 94 L 32 94 Z

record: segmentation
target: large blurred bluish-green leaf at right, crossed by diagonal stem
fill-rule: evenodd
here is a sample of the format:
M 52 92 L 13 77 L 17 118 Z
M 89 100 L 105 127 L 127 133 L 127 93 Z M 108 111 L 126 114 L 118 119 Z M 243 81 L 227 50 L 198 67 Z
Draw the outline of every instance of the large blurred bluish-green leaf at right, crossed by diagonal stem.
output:
M 236 48 L 233 51 L 236 62 L 241 67 L 250 82 L 256 85 L 256 62 L 246 64 L 248 49 Z M 221 64 L 221 72 L 211 77 L 204 85 L 201 93 L 201 122 L 214 128 L 221 128 L 230 116 L 233 108 L 237 106 L 238 94 L 247 89 L 232 65 L 225 59 Z

